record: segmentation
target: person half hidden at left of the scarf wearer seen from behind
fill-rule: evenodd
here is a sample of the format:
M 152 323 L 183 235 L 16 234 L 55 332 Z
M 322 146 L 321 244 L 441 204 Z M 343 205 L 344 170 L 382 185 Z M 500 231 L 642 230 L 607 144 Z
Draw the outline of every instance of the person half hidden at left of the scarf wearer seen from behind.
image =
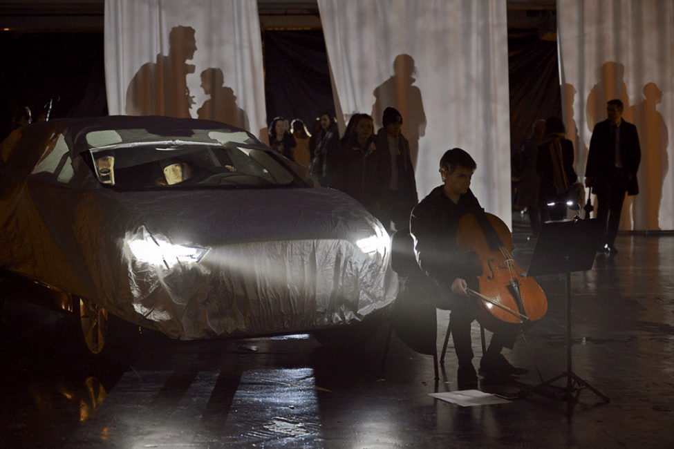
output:
M 541 230 L 541 216 L 539 215 L 539 175 L 536 174 L 536 157 L 539 145 L 545 135 L 545 120 L 536 120 L 532 125 L 530 135 L 522 144 L 522 173 L 517 189 L 516 204 L 527 209 L 532 229 L 530 239 L 539 235 Z

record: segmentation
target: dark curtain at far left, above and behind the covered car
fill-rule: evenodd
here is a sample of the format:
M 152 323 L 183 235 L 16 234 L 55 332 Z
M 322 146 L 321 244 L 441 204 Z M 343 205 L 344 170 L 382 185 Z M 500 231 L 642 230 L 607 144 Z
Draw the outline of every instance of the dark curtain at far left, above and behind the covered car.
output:
M 23 106 L 33 120 L 108 114 L 102 32 L 3 33 L 0 55 L 2 138 Z

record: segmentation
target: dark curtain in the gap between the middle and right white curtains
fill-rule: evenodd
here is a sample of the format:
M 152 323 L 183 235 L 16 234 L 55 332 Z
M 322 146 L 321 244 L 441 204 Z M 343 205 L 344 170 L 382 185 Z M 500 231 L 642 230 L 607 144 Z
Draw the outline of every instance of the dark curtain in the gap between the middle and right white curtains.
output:
M 508 39 L 510 151 L 518 151 L 536 120 L 561 116 L 556 41 L 538 35 Z

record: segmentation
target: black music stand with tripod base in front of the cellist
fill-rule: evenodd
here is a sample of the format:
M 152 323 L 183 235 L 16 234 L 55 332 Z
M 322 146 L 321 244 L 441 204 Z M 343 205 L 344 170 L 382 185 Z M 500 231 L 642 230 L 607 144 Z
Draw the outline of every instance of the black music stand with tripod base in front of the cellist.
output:
M 541 227 L 539 238 L 534 247 L 534 254 L 527 276 L 542 276 L 544 274 L 566 274 L 566 371 L 549 381 L 536 385 L 532 390 L 540 390 L 559 379 L 566 378 L 566 388 L 562 389 L 562 396 L 571 399 L 575 392 L 588 388 L 604 402 L 608 397 L 601 394 L 586 381 L 583 381 L 572 370 L 571 358 L 571 272 L 592 269 L 597 256 L 597 247 L 601 239 L 601 227 L 597 219 L 545 222 Z M 575 385 L 578 385 L 576 388 Z M 554 386 L 554 385 L 550 385 Z

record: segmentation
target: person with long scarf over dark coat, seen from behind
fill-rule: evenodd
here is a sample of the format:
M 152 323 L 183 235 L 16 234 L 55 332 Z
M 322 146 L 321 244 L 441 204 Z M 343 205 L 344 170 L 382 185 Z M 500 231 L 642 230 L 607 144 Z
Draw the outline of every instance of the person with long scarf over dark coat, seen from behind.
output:
M 578 180 L 574 170 L 573 143 L 566 138 L 564 123 L 559 117 L 545 120 L 545 136 L 536 155 L 541 222 L 566 217 L 569 189 Z M 548 204 L 554 203 L 550 206 Z

